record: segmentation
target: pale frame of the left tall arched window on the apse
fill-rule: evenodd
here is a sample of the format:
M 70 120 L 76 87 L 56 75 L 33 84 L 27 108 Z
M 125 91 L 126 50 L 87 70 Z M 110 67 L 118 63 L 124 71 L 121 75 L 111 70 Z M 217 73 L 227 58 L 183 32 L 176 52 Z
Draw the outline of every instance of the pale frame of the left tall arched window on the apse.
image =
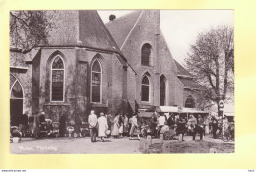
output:
M 63 63 L 63 69 L 52 69 L 52 65 L 53 65 L 53 62 L 54 60 L 59 57 L 61 60 L 62 60 L 62 63 Z M 65 69 L 66 69 L 66 66 L 65 66 L 65 61 L 64 59 L 62 58 L 61 55 L 56 55 L 52 60 L 51 60 L 51 64 L 50 64 L 50 102 L 65 102 L 65 83 L 66 83 L 66 75 L 65 75 Z M 52 100 L 52 71 L 63 71 L 63 92 L 62 92 L 62 95 L 63 95 L 63 100 L 62 101 L 55 101 L 55 100 Z

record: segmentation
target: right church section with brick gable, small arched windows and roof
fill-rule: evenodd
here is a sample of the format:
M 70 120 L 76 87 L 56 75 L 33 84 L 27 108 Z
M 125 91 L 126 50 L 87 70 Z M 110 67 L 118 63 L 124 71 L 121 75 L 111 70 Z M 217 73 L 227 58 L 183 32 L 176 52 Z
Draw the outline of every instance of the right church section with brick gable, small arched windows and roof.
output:
M 135 100 L 139 108 L 195 107 L 199 85 L 173 59 L 160 31 L 159 10 L 134 11 L 112 19 L 106 27 L 136 72 L 135 78 L 127 77 L 130 104 Z

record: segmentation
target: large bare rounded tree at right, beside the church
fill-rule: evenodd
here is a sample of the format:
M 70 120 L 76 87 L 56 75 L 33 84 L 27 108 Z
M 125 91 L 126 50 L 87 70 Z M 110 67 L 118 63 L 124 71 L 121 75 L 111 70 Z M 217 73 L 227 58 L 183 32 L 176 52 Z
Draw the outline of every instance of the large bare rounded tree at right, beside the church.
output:
M 233 50 L 233 28 L 218 26 L 198 35 L 186 60 L 188 69 L 206 87 L 201 96 L 204 101 L 217 103 L 219 115 L 222 115 L 219 100 L 233 97 Z

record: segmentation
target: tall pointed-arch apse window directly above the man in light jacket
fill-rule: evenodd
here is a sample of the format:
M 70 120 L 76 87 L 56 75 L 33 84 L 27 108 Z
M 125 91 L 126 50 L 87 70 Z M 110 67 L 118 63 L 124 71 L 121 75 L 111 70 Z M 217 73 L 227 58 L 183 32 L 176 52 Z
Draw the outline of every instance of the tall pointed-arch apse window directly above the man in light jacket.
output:
M 91 102 L 101 102 L 101 80 L 102 69 L 99 61 L 96 59 L 91 68 Z

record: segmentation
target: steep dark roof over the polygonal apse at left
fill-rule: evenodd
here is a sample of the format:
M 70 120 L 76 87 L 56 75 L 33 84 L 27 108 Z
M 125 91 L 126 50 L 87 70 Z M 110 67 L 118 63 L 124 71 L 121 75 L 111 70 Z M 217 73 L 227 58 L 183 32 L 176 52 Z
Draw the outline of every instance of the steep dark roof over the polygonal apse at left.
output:
M 96 10 L 47 11 L 47 15 L 54 22 L 54 27 L 49 32 L 48 44 L 38 47 L 83 47 L 117 53 L 122 65 L 127 66 L 126 58 Z M 33 49 L 21 52 L 27 54 Z

